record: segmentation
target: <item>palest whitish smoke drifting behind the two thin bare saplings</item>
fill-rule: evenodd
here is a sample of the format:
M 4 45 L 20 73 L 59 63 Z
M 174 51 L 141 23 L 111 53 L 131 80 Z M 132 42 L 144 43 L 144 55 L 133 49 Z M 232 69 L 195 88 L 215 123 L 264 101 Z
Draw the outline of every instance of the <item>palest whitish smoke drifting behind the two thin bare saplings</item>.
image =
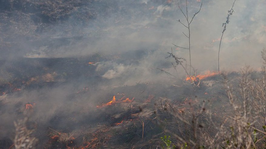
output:
M 170 47 L 176 44 L 187 47 L 188 41 L 182 32 L 187 33 L 186 28 L 176 20 L 184 22 L 184 16 L 179 11 L 177 2 L 170 1 L 154 3 L 151 1 L 135 2 L 140 8 L 131 8 L 131 2 L 117 1 L 118 13 L 108 16 L 97 16 L 91 26 L 71 26 L 67 31 L 60 31 L 60 26 L 52 27 L 51 32 L 42 33 L 59 38 L 81 36 L 81 39 L 66 39 L 66 44 L 58 46 L 44 45 L 25 53 L 26 57 L 79 57 L 95 52 L 119 53 L 132 50 L 157 50 L 170 51 Z M 133 2 L 134 3 L 134 2 Z M 200 2 L 191 1 L 189 4 L 189 16 L 191 17 L 199 8 Z M 184 2 L 180 2 L 184 9 Z M 221 45 L 221 68 L 237 69 L 244 65 L 256 66 L 259 64 L 260 51 L 265 46 L 265 2 L 261 1 L 237 1 L 234 13 L 225 31 Z M 198 69 L 214 69 L 217 67 L 217 51 L 221 38 L 222 23 L 227 16 L 227 10 L 231 8 L 231 1 L 204 1 L 200 13 L 191 23 L 191 52 L 192 64 Z M 134 5 L 133 5 L 134 6 Z M 125 10 L 123 10 L 125 9 Z M 126 15 L 119 14 L 120 11 Z M 134 11 L 135 10 L 135 11 Z M 143 12 L 142 12 L 143 11 Z M 122 13 L 122 12 L 121 12 Z M 105 22 L 101 22 L 102 18 Z M 69 23 L 73 20 L 69 20 Z M 66 22 L 67 24 L 67 22 Z M 73 31 L 71 31 L 73 30 Z M 79 32 L 75 32 L 79 31 Z M 102 34 L 93 38 L 93 34 Z M 86 37 L 89 35 L 89 38 Z M 213 42 L 215 40 L 215 42 Z M 49 44 L 47 42 L 46 44 Z M 158 47 L 162 46 L 162 47 Z M 252 50 L 250 50 L 252 49 Z M 23 50 L 23 49 L 22 49 Z M 176 50 L 178 56 L 188 59 L 188 52 L 184 49 Z M 23 56 L 23 55 L 21 55 Z M 164 57 L 164 55 L 162 55 Z M 228 65 L 233 63 L 232 68 Z

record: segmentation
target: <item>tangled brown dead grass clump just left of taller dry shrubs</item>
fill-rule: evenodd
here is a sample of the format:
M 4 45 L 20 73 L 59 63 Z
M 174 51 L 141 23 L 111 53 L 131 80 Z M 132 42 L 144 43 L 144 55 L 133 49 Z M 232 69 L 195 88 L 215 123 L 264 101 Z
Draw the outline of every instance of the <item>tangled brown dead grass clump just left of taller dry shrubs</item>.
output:
M 177 147 L 202 148 L 210 146 L 212 127 L 209 113 L 206 112 L 205 102 L 189 103 L 180 108 L 172 105 L 167 99 L 157 104 L 157 121 L 166 135 L 172 136 L 171 141 Z

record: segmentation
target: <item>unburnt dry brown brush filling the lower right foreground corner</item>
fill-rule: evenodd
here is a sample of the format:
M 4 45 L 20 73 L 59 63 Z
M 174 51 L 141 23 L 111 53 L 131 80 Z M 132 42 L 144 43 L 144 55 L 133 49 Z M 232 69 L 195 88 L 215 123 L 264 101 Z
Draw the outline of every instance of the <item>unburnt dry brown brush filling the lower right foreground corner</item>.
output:
M 205 103 L 180 110 L 167 100 L 157 105 L 157 120 L 172 142 L 184 148 L 266 148 L 266 51 L 263 71 L 241 70 L 238 84 L 224 75 L 231 110 L 220 121 Z M 257 77 L 254 77 L 257 76 Z

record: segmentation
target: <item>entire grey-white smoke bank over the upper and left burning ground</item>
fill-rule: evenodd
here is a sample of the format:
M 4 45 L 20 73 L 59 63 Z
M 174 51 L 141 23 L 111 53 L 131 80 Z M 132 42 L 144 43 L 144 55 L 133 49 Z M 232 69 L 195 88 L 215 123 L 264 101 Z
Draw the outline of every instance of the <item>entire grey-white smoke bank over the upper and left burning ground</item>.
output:
M 201 1 L 188 0 L 189 18 L 198 11 Z M 233 1 L 204 0 L 190 24 L 191 63 L 197 74 L 218 70 L 222 24 Z M 183 10 L 184 4 L 185 0 L 180 0 Z M 261 67 L 261 50 L 266 47 L 265 6 L 264 0 L 236 1 L 221 43 L 220 70 Z M 65 10 L 70 15 L 63 21 L 60 17 L 59 21 L 45 21 L 33 8 L 21 16 L 16 15 L 20 10 L 8 15 L 2 6 L 0 10 L 0 83 L 14 83 L 19 76 L 26 82 L 21 92 L 11 94 L 7 90 L 7 95 L 0 96 L 0 119 L 4 119 L 0 121 L 0 138 L 14 136 L 13 121 L 24 116 L 27 103 L 36 103 L 32 119 L 38 121 L 42 131 L 47 123 L 55 129 L 69 130 L 70 126 L 82 125 L 77 123 L 80 121 L 98 125 L 94 120 L 109 111 L 95 112 L 95 106 L 120 93 L 118 88 L 123 91 L 123 86 L 140 83 L 172 85 L 186 77 L 181 66 L 174 70 L 173 58 L 166 58 L 172 48 L 174 55 L 189 64 L 188 50 L 173 45 L 188 47 L 182 33 L 188 34 L 187 28 L 177 21 L 185 23 L 185 18 L 176 0 L 95 0 Z M 28 87 L 27 82 L 35 84 Z M 79 93 L 84 88 L 88 91 Z M 77 115 L 77 119 L 67 119 L 67 115 Z

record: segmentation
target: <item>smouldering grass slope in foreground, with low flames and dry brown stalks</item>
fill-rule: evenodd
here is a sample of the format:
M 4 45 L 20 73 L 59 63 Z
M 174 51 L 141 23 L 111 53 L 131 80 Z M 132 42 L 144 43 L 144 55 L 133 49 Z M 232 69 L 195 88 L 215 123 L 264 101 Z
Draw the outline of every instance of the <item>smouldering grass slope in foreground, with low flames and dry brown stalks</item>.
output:
M 74 99 L 94 95 L 95 89 L 79 86 L 69 95 L 69 105 L 75 110 L 66 112 L 69 109 L 63 107 L 65 113 L 55 112 L 45 128 L 27 129 L 32 130 L 32 139 L 39 138 L 41 148 L 47 149 L 162 148 L 166 145 L 161 139 L 163 136 L 170 136 L 166 141 L 177 147 L 186 144 L 189 148 L 263 148 L 265 78 L 261 73 L 242 71 L 228 74 L 227 79 L 217 73 L 206 73 L 194 78 L 202 80 L 199 86 L 191 85 L 189 79 L 188 83 L 178 85 L 174 85 L 178 82 L 171 85 L 139 83 L 105 89 L 102 92 L 108 94 L 97 96 L 101 100 L 91 107 L 84 106 L 84 101 L 80 102 L 81 106 Z M 33 84 L 2 98 L 25 92 Z M 18 103 L 18 113 L 38 123 L 35 113 L 42 108 L 42 101 Z

